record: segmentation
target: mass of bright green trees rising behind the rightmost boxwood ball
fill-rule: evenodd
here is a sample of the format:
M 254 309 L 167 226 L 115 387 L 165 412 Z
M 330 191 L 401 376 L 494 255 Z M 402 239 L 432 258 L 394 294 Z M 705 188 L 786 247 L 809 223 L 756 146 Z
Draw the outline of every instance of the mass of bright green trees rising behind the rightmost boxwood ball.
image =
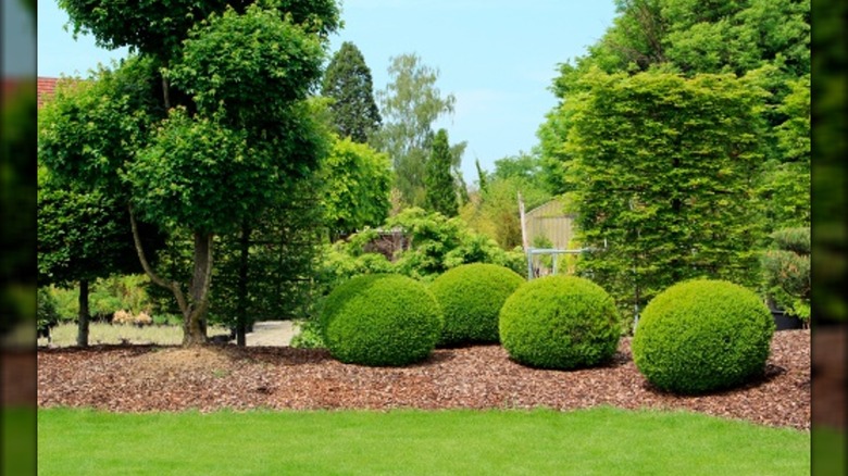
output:
M 560 65 L 560 103 L 538 134 L 579 239 L 610 243 L 578 272 L 631 318 L 686 278 L 761 289 L 769 236 L 810 226 L 810 2 L 616 9 L 588 53 Z

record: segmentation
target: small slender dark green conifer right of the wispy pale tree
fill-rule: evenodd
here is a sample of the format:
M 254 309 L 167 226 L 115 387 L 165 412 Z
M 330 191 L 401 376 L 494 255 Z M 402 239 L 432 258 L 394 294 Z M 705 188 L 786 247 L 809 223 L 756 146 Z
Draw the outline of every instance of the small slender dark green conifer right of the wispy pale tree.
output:
M 445 216 L 457 216 L 457 190 L 450 166 L 453 155 L 448 145 L 448 131 L 439 129 L 433 138 L 433 149 L 427 161 L 424 183 L 426 185 L 425 205 L 428 210 Z

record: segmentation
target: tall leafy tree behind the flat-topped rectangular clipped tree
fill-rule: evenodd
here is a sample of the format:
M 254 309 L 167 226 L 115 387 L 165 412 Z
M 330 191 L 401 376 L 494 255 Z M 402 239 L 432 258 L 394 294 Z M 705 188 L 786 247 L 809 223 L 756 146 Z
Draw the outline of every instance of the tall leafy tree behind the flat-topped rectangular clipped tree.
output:
M 764 167 L 757 195 L 769 204 L 768 231 L 809 223 L 809 0 L 697 2 L 620 0 L 619 15 L 589 53 L 560 65 L 553 90 L 561 103 L 539 128 L 543 163 L 556 192 L 572 185 L 573 154 L 563 148 L 573 111 L 563 105 L 588 93 L 582 82 L 597 67 L 609 74 L 678 73 L 747 77 L 768 91 L 758 115 Z M 731 114 L 732 115 L 732 114 Z M 762 245 L 762 243 L 760 243 Z

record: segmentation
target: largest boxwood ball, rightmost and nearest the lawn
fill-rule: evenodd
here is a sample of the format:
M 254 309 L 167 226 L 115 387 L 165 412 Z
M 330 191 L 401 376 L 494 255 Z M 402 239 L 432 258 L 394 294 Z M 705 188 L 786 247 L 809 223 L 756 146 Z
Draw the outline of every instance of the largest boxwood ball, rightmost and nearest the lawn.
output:
M 662 390 L 703 393 L 761 374 L 773 335 L 771 312 L 753 291 L 729 281 L 689 280 L 645 306 L 633 360 Z

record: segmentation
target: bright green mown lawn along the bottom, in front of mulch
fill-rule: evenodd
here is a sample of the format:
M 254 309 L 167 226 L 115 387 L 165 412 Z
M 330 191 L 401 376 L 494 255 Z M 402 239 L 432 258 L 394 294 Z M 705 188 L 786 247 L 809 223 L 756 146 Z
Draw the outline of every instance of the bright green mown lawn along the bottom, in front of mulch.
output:
M 810 434 L 682 412 L 38 411 L 40 475 L 808 475 Z

